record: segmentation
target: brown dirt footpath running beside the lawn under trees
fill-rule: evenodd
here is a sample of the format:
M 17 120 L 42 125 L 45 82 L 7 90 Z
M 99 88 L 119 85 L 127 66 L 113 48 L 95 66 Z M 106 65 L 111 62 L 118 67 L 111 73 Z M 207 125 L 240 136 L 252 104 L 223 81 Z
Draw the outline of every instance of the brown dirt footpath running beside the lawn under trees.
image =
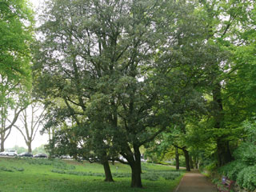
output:
M 217 189 L 198 170 L 186 173 L 174 192 L 216 192 Z

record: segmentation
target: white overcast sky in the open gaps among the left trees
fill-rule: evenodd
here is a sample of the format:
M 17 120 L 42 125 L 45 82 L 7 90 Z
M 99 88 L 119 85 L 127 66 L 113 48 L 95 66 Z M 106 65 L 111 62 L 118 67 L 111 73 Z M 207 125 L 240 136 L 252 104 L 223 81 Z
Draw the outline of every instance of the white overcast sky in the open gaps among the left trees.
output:
M 40 6 L 42 6 L 42 2 L 43 2 L 43 0 L 29 0 L 29 1 L 32 2 L 35 10 L 40 9 Z M 35 13 L 38 13 L 38 11 L 35 11 Z M 17 121 L 17 125 L 22 126 L 22 123 Z M 39 130 L 41 129 L 42 127 L 39 128 Z M 48 141 L 48 135 L 47 134 L 41 135 L 39 134 L 39 131 L 38 131 L 38 134 L 36 134 L 34 138 L 34 142 L 32 142 L 32 149 L 38 146 L 41 146 L 42 144 L 46 144 L 47 141 Z M 22 137 L 22 134 L 19 133 L 15 127 L 13 127 L 9 137 L 6 139 L 5 150 L 13 148 L 16 145 L 27 148 L 24 138 Z

